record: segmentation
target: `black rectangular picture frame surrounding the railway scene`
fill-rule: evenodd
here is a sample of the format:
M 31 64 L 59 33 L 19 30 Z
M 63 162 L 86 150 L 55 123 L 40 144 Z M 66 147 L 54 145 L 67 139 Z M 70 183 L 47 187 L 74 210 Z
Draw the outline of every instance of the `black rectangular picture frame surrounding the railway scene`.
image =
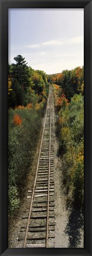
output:
M 45 4 L 44 4 L 45 3 Z M 2 227 L 2 241 L 1 241 L 1 255 L 51 255 L 51 254 L 59 254 L 59 255 L 92 255 L 92 201 L 91 201 L 91 195 L 92 195 L 92 188 L 91 188 L 91 182 L 92 182 L 92 173 L 91 173 L 91 167 L 92 167 L 92 135 L 91 135 L 91 128 L 92 128 L 92 118 L 91 118 L 91 108 L 92 108 L 92 1 L 26 1 L 26 0 L 18 0 L 18 1 L 3 1 L 1 0 L 1 85 L 3 85 L 3 89 L 1 89 L 1 121 L 2 126 L 0 122 L 0 149 L 2 151 L 1 154 L 1 162 L 2 166 L 1 169 L 3 171 L 2 175 L 2 198 L 4 201 L 7 201 L 5 204 L 2 200 L 2 225 L 4 225 L 4 228 Z M 29 7 L 31 6 L 31 7 Z M 43 7 L 42 7 L 43 6 Z M 49 7 L 48 7 L 49 6 Z M 84 242 L 85 242 L 85 248 L 78 249 L 78 248 L 54 248 L 52 249 L 48 248 L 48 251 L 45 251 L 44 249 L 35 249 L 33 248 L 31 251 L 29 248 L 24 248 L 22 251 L 21 248 L 7 248 L 8 246 L 8 239 L 6 230 L 8 231 L 8 223 L 5 219 L 5 215 L 8 213 L 7 204 L 8 204 L 8 185 L 7 185 L 7 179 L 8 174 L 6 174 L 6 168 L 7 168 L 7 147 L 8 143 L 7 137 L 8 137 L 8 130 L 6 130 L 6 127 L 8 126 L 7 117 L 8 117 L 8 111 L 7 111 L 7 105 L 8 105 L 8 98 L 7 98 L 7 91 L 6 85 L 7 85 L 7 79 L 8 79 L 8 70 L 6 66 L 8 65 L 8 8 L 84 8 L 84 86 L 85 86 L 85 93 L 84 93 L 84 113 L 85 113 L 85 119 L 86 119 L 86 126 L 84 127 L 84 135 L 86 136 L 85 141 L 85 148 L 86 151 L 85 154 L 85 166 L 89 170 L 90 174 L 90 180 L 88 178 L 87 172 L 85 172 L 85 179 L 84 179 L 84 185 L 86 187 L 87 193 L 85 193 L 85 200 L 86 200 L 86 206 L 85 206 L 85 223 L 84 223 L 84 231 L 87 231 L 86 235 L 84 236 Z M 58 6 L 58 7 L 56 7 Z M 72 7 L 71 7 L 72 6 Z M 75 6 L 75 7 L 74 7 Z M 5 32 L 4 32 L 5 31 Z M 4 32 L 4 33 L 3 33 Z M 88 120 L 88 123 L 87 123 Z M 90 152 L 89 152 L 90 149 Z M 5 161 L 4 161 L 5 160 Z M 4 184 L 4 185 L 3 185 Z M 88 216 L 86 220 L 86 216 Z M 68 253 L 67 253 L 68 251 Z M 31 254 L 32 253 L 32 254 Z

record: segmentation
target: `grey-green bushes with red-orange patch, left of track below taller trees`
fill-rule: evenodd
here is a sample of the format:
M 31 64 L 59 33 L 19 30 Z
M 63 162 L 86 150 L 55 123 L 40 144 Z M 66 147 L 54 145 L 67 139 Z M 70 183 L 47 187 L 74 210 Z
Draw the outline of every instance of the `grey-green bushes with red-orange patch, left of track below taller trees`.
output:
M 19 207 L 19 194 L 34 157 L 40 128 L 40 111 L 27 107 L 9 109 L 9 215 Z

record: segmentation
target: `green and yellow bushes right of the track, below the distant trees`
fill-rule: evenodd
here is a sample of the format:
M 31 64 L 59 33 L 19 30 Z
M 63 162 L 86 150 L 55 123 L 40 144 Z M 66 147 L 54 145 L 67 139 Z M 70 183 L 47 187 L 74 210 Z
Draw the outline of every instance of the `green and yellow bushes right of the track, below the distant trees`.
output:
M 63 180 L 75 206 L 84 202 L 84 111 L 83 95 L 74 95 L 59 112 L 60 149 L 63 156 Z

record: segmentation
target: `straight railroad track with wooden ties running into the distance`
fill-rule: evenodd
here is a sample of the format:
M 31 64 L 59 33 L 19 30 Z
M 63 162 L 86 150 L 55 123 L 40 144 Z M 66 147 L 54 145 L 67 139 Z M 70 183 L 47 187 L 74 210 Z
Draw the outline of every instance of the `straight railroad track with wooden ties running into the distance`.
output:
M 24 212 L 18 247 L 54 247 L 53 93 L 50 87 L 34 188 Z M 31 191 L 28 191 L 31 193 Z M 21 245 L 22 241 L 22 245 Z

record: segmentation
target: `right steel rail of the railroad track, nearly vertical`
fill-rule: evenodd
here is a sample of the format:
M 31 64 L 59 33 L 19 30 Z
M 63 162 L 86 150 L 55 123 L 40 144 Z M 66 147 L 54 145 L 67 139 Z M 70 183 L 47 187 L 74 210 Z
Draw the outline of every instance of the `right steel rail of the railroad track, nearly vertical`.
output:
M 50 146 L 49 146 L 49 169 L 48 169 L 48 200 L 47 200 L 47 235 L 45 247 L 48 247 L 48 225 L 49 225 L 49 198 L 50 198 L 50 164 L 51 164 L 51 105 L 50 105 Z

